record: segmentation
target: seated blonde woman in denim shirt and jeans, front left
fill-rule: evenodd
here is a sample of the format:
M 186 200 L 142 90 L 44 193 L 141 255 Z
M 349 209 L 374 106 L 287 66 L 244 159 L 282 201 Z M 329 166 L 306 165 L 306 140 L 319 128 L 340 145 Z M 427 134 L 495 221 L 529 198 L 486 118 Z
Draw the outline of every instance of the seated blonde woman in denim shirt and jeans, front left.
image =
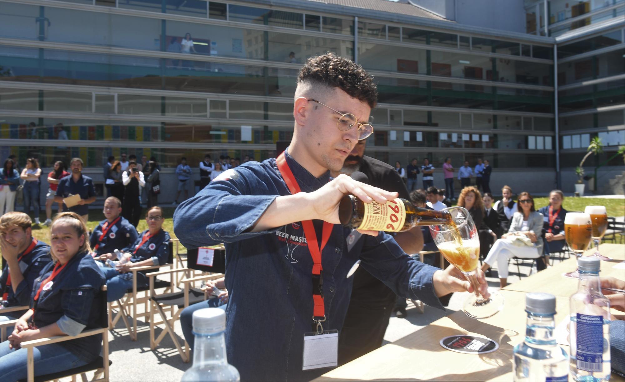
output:
M 27 350 L 20 344 L 51 336 L 75 336 L 99 328 L 104 285 L 98 265 L 89 255 L 87 227 L 74 212 L 54 218 L 50 229 L 51 256 L 34 281 L 31 309 L 22 315 L 7 341 L 0 343 L 2 381 L 26 380 Z M 46 375 L 87 365 L 98 358 L 102 336 L 94 335 L 34 348 L 34 375 Z

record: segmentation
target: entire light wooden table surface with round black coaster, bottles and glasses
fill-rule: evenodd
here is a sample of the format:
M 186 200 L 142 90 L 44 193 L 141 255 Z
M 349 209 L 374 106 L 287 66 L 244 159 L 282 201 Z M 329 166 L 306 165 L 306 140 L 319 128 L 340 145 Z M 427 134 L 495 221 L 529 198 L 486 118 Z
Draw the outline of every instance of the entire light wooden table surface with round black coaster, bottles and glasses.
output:
M 625 245 L 604 244 L 600 251 L 611 258 L 625 258 Z M 562 263 L 567 264 L 549 267 L 501 290 L 505 299 L 504 309 L 492 317 L 474 320 L 464 312 L 456 311 L 400 340 L 331 370 L 316 381 L 512 381 L 512 351 L 525 338 L 526 291 L 547 291 L 556 295 L 556 325 L 568 316 L 569 296 L 577 290 L 577 281 L 562 277 L 561 274 L 572 270 L 575 260 Z M 619 278 L 624 278 L 623 270 L 611 268 L 616 263 L 602 262 L 602 275 L 611 273 L 616 276 L 619 273 Z M 607 272 L 606 268 L 612 271 Z M 524 290 L 512 290 L 515 285 L 522 283 L 519 289 Z M 499 343 L 499 349 L 483 355 L 445 350 L 439 341 L 451 335 L 485 336 Z M 568 346 L 561 346 L 569 351 Z M 611 381 L 625 379 L 612 374 Z

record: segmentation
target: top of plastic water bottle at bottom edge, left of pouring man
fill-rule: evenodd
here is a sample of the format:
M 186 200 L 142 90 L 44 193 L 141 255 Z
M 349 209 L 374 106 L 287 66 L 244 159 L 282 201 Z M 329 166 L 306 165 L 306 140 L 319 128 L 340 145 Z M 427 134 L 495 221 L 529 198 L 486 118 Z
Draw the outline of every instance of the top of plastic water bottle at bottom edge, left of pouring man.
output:
M 181 381 L 239 381 L 239 371 L 226 359 L 226 312 L 206 308 L 193 312 L 193 366 Z

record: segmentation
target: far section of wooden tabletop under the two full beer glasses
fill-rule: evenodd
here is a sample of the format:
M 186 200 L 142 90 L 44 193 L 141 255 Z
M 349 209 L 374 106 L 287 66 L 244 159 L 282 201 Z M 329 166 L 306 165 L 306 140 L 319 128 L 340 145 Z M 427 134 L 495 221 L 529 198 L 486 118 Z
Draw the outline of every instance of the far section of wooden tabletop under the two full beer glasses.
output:
M 625 260 L 625 245 L 601 244 L 599 252 L 611 258 L 609 262 L 601 262 L 602 277 L 612 276 L 625 280 L 625 269 L 614 268 L 615 265 Z M 594 249 L 586 251 L 584 255 L 591 255 Z M 569 297 L 577 290 L 577 279 L 562 276 L 562 273 L 572 272 L 577 268 L 577 258 L 571 257 L 553 267 L 548 267 L 531 277 L 522 278 L 521 281 L 508 285 L 504 290 L 522 292 L 542 291 L 556 296 Z

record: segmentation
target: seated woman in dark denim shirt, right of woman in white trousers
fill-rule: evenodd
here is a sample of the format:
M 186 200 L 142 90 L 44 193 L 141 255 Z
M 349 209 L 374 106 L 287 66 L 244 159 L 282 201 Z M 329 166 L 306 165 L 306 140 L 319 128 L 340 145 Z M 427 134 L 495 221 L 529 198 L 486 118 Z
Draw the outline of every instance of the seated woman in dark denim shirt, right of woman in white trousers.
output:
M 542 233 L 547 240 L 545 247 L 545 260 L 549 263 L 549 254 L 561 252 L 564 248 L 564 217 L 567 210 L 562 208 L 564 193 L 560 190 L 549 192 L 549 205 L 542 207 L 538 212 L 542 213 L 544 225 Z

